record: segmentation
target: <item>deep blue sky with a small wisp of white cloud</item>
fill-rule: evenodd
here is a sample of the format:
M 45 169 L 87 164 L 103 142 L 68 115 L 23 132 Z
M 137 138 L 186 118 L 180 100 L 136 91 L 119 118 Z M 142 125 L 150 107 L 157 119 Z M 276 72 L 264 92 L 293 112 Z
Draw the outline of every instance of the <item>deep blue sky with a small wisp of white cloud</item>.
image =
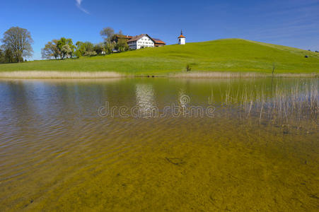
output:
M 30 31 L 33 59 L 60 37 L 102 42 L 110 26 L 124 35 L 147 33 L 175 44 L 238 37 L 319 51 L 319 0 L 3 0 L 0 37 L 19 26 Z

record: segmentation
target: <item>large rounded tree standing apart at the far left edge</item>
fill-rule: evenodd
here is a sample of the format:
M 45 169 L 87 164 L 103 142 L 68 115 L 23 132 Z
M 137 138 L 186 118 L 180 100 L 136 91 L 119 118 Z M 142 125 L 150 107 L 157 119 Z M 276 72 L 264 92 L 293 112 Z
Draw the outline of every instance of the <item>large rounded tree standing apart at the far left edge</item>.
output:
M 4 33 L 0 46 L 0 64 L 23 62 L 25 58 L 32 57 L 33 39 L 28 30 L 12 27 Z

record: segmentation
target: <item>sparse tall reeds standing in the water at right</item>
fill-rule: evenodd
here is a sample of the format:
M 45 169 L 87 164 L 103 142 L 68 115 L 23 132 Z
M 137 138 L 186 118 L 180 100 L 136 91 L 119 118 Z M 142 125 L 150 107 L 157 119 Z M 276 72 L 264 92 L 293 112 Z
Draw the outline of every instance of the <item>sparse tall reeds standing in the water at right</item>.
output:
M 211 100 L 214 101 L 214 93 Z M 254 89 L 248 86 L 227 88 L 221 93 L 221 105 L 235 108 L 243 121 L 249 119 L 259 124 L 294 126 L 296 129 L 308 125 L 317 129 L 319 83 L 313 79 L 311 83 L 296 81 L 289 87 L 275 83 L 271 88 L 265 85 Z

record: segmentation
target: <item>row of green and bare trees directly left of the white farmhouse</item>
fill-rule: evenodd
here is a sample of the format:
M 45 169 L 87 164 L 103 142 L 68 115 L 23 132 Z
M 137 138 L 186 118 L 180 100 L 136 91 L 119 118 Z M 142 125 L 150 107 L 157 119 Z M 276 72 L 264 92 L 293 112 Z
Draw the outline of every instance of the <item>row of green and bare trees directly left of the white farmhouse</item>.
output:
M 104 42 L 93 44 L 91 42 L 76 42 L 73 44 L 71 38 L 62 37 L 60 40 L 47 42 L 42 49 L 43 59 L 66 59 L 72 57 L 95 56 L 101 54 L 112 54 L 129 50 L 127 40 L 122 32 L 115 33 L 112 28 L 104 28 L 100 31 Z

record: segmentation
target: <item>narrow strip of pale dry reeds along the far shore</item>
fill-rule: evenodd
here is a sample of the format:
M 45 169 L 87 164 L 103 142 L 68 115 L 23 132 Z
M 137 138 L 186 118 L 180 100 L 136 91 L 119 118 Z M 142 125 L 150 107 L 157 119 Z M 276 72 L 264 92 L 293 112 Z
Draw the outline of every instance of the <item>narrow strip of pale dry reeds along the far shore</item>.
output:
M 1 71 L 0 79 L 85 79 L 85 78 L 262 78 L 272 77 L 272 73 L 257 72 L 222 72 L 222 71 L 193 71 L 190 73 L 167 73 L 163 75 L 129 75 L 115 71 Z M 274 77 L 318 78 L 319 73 L 274 73 Z

